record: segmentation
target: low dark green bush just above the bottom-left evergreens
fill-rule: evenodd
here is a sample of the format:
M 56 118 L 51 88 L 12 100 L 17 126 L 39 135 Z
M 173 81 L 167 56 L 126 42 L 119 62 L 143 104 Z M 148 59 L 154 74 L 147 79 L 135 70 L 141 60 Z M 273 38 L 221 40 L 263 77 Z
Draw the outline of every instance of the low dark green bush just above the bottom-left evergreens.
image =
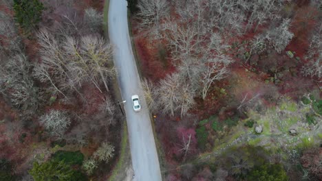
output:
M 59 150 L 52 156 L 52 158 L 58 161 L 63 160 L 65 163 L 69 165 L 82 165 L 84 160 L 84 155 L 79 151 L 67 152 L 67 151 Z

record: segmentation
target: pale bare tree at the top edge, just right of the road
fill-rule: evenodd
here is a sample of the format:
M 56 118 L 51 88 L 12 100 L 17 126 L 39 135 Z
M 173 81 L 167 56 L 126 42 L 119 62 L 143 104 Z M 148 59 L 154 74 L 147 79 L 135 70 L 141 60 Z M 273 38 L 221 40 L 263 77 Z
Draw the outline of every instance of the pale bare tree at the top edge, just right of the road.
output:
M 138 17 L 140 25 L 149 27 L 156 36 L 160 36 L 160 23 L 169 14 L 167 0 L 140 0 L 138 1 Z

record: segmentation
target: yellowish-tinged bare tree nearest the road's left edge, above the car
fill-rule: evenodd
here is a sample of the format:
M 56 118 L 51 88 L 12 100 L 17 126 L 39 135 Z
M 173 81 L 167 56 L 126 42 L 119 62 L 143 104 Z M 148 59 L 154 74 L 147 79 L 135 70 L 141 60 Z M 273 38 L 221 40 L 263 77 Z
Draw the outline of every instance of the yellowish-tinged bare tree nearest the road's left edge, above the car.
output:
M 79 45 L 78 45 L 79 44 Z M 107 80 L 116 73 L 111 65 L 111 46 L 96 36 L 83 36 L 78 43 L 74 38 L 67 38 L 63 47 L 68 62 L 67 69 L 73 82 L 81 85 L 91 81 L 98 90 L 103 82 L 106 90 Z M 100 90 L 102 92 L 102 90 Z

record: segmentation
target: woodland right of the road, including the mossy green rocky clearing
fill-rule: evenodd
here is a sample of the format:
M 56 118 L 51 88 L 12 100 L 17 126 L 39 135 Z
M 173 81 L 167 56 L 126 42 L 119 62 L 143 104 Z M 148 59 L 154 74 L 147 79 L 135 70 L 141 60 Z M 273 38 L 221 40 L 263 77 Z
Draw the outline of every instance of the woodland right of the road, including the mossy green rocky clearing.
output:
M 321 7 L 131 1 L 165 180 L 322 179 Z

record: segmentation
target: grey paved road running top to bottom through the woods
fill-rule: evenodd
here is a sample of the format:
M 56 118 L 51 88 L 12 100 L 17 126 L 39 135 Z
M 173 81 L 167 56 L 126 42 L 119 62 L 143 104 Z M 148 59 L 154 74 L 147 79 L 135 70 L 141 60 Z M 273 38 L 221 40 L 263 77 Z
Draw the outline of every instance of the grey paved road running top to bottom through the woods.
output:
M 158 154 L 131 47 L 125 0 L 109 1 L 109 38 L 115 46 L 114 63 L 118 70 L 120 90 L 123 100 L 127 101 L 124 106 L 135 180 L 160 181 Z M 134 112 L 131 105 L 131 95 L 135 94 L 140 96 L 142 104 L 140 112 Z

